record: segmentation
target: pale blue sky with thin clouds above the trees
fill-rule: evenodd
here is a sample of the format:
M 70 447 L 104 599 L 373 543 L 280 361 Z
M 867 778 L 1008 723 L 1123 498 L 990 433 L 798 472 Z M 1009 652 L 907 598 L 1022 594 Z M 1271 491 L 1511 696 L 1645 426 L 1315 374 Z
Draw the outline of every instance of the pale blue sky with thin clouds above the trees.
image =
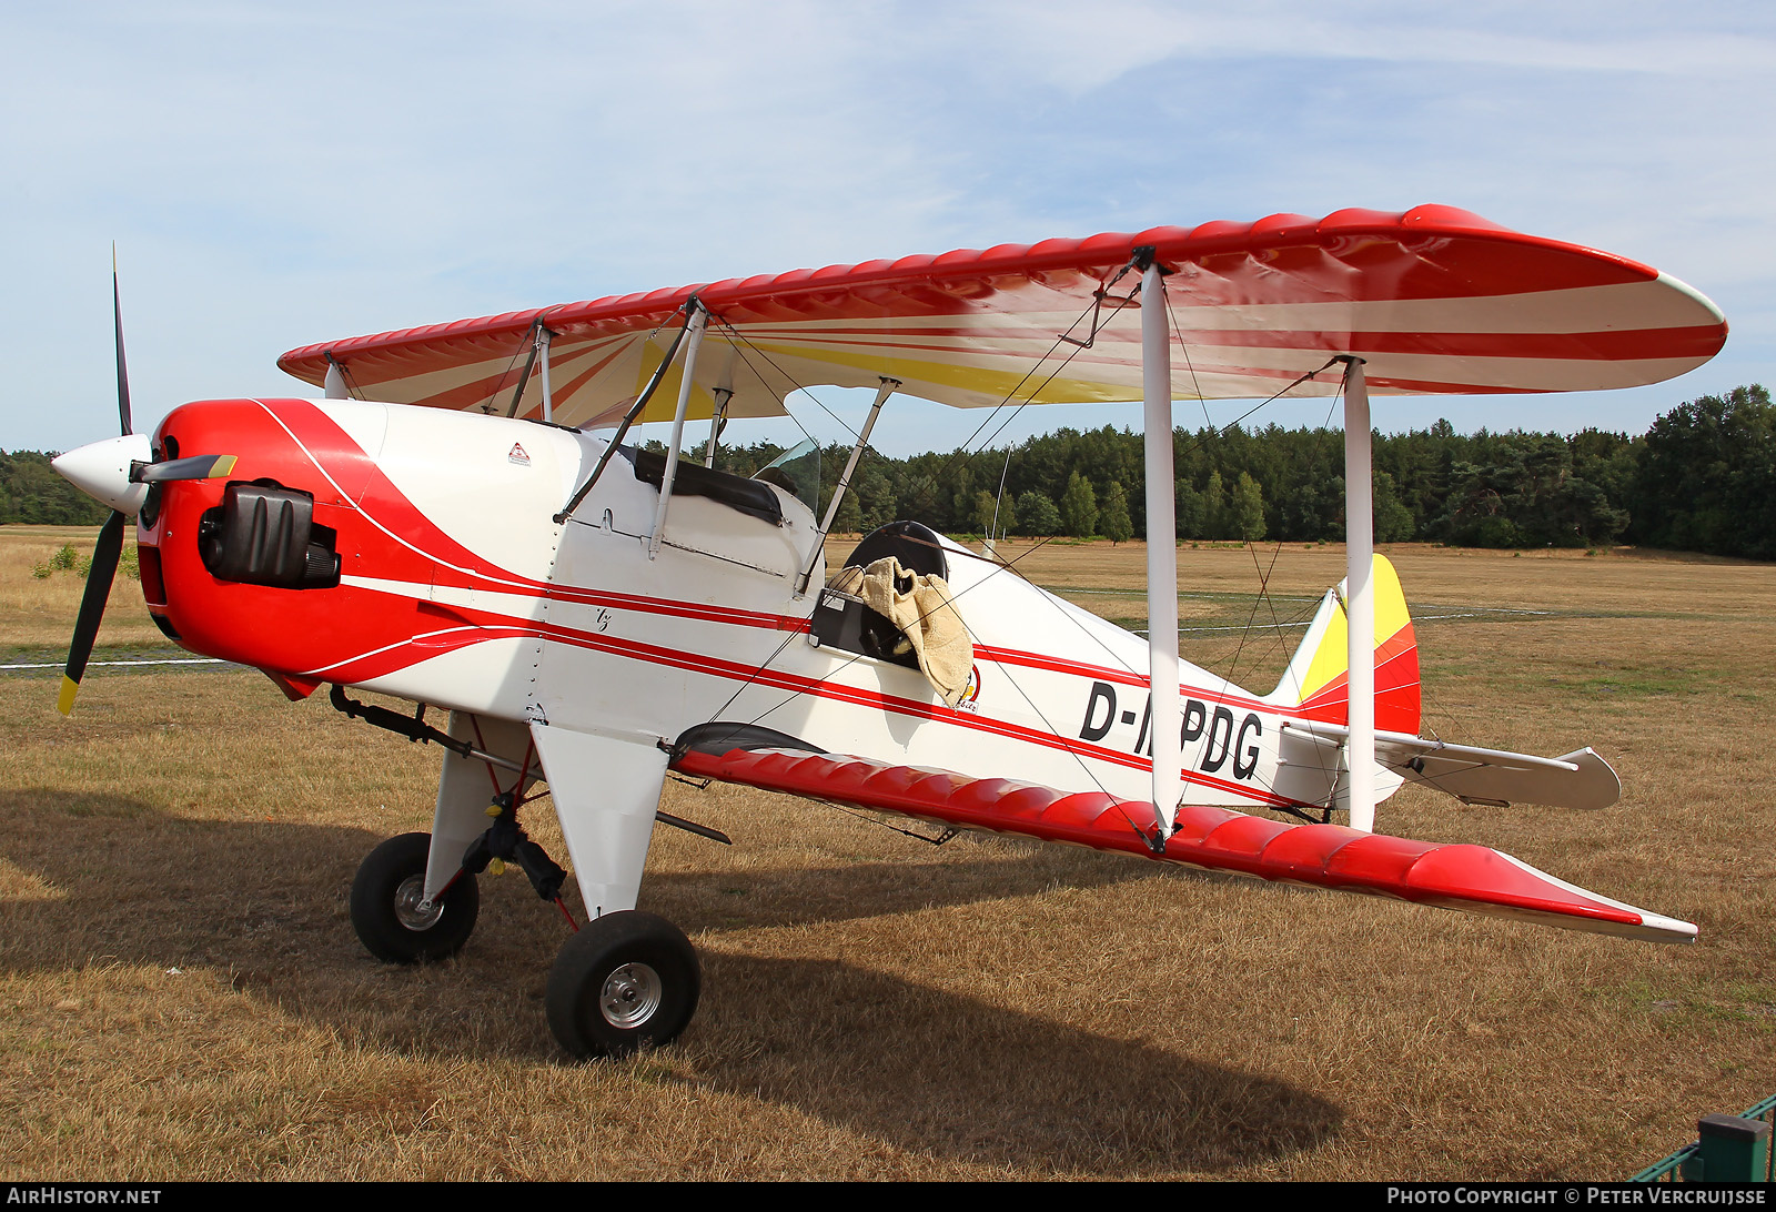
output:
M 12 0 L 0 55 L 9 450 L 115 432 L 112 240 L 144 430 L 192 398 L 298 395 L 275 357 L 327 338 L 1419 203 L 1655 265 L 1733 334 L 1671 384 L 1378 398 L 1380 428 L 1639 432 L 1682 400 L 1776 384 L 1767 4 Z M 1254 419 L 1325 416 L 1320 400 Z M 979 419 L 908 402 L 877 446 L 952 446 Z M 1105 423 L 1138 411 L 1028 409 L 1000 443 Z

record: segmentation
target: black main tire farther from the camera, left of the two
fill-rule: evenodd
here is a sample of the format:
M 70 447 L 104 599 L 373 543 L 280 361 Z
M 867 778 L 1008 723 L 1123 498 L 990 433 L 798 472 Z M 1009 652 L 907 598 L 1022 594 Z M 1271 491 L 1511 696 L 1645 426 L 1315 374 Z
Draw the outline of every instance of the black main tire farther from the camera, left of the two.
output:
M 369 851 L 352 880 L 352 926 L 369 954 L 389 963 L 426 963 L 462 951 L 481 912 L 481 890 L 467 871 L 437 899 L 430 924 L 416 901 L 424 889 L 432 833 L 401 833 Z M 417 883 L 414 883 L 417 881 Z M 403 921 L 403 917 L 407 921 Z

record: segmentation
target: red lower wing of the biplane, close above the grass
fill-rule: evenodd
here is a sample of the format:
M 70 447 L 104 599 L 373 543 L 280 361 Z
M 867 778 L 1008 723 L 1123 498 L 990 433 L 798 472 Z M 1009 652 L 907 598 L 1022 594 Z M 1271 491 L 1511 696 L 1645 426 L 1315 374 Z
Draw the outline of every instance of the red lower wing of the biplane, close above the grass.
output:
M 739 736 L 746 725 L 705 725 Z M 787 739 L 787 738 L 785 738 Z M 1653 942 L 1693 942 L 1696 928 L 1577 889 L 1485 846 L 1414 842 L 1339 825 L 1284 825 L 1259 816 L 1185 805 L 1177 832 L 1154 853 L 1138 826 L 1153 805 L 1101 791 L 1067 794 L 1007 778 L 888 766 L 842 754 L 781 748 L 689 748 L 673 759 L 687 775 L 881 809 L 961 828 L 1023 833 L 1094 849 L 1119 849 L 1195 867 L 1236 871 L 1419 905 L 1517 917 Z

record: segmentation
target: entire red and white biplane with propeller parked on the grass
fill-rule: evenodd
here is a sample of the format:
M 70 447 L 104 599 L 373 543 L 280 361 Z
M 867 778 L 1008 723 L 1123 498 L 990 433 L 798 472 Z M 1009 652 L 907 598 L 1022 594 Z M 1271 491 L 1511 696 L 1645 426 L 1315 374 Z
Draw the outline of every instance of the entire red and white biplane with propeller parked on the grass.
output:
M 1508 855 L 1373 832 L 1403 782 L 1590 809 L 1620 785 L 1588 748 L 1419 736 L 1412 624 L 1369 540 L 1368 393 L 1652 384 L 1724 336 L 1707 299 L 1657 270 L 1444 206 L 868 261 L 330 341 L 279 363 L 325 398 L 202 400 L 153 435 L 130 432 L 119 320 L 124 435 L 57 460 L 115 510 L 62 709 L 133 517 L 169 638 L 291 698 L 330 682 L 343 711 L 448 748 L 432 832 L 378 846 L 352 887 L 377 956 L 458 951 L 492 862 L 559 899 L 567 873 L 519 823 L 547 785 L 590 919 L 547 993 L 577 1056 L 673 1040 L 696 1008 L 691 944 L 636 908 L 655 823 L 712 833 L 659 814 L 668 771 L 1687 942 L 1689 922 Z M 1291 382 L 1344 396 L 1350 567 L 1256 693 L 1177 656 L 1170 409 Z M 824 512 L 783 467 L 709 466 L 725 419 L 822 384 L 877 393 Z M 892 395 L 1144 400 L 1149 638 L 915 521 L 868 535 L 829 585 L 822 540 Z M 664 419 L 664 455 L 623 444 Z M 705 457 L 680 457 L 703 419 Z M 417 709 L 364 706 L 352 686 Z

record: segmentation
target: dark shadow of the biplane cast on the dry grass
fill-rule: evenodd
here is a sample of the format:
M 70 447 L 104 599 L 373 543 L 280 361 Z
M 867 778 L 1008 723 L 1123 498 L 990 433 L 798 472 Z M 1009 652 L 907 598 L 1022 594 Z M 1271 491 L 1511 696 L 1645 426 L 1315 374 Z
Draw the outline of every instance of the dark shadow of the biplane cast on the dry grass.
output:
M 0 793 L 0 858 L 55 892 L 0 901 L 0 970 L 208 969 L 368 1047 L 559 1057 L 538 1004 L 561 924 L 522 878 L 483 880 L 481 924 L 460 956 L 398 969 L 362 951 L 346 913 L 375 841 L 364 830 L 188 821 L 128 798 L 59 810 L 59 798 Z M 893 915 L 1037 894 L 1055 881 L 1050 853 L 925 865 L 918 878 L 893 864 L 661 873 L 643 901 L 712 933 Z M 1087 862 L 1069 878 L 1094 873 L 1099 885 L 1151 874 Z M 797 890 L 812 896 L 797 901 Z M 1217 1171 L 1311 1148 L 1343 1121 L 1336 1104 L 1288 1082 L 950 993 L 941 976 L 915 985 L 716 947 L 703 969 L 705 1011 L 675 1049 L 693 1075 L 673 1080 L 897 1148 L 1067 1173 Z M 1130 1036 L 1140 1034 L 1135 1013 Z

